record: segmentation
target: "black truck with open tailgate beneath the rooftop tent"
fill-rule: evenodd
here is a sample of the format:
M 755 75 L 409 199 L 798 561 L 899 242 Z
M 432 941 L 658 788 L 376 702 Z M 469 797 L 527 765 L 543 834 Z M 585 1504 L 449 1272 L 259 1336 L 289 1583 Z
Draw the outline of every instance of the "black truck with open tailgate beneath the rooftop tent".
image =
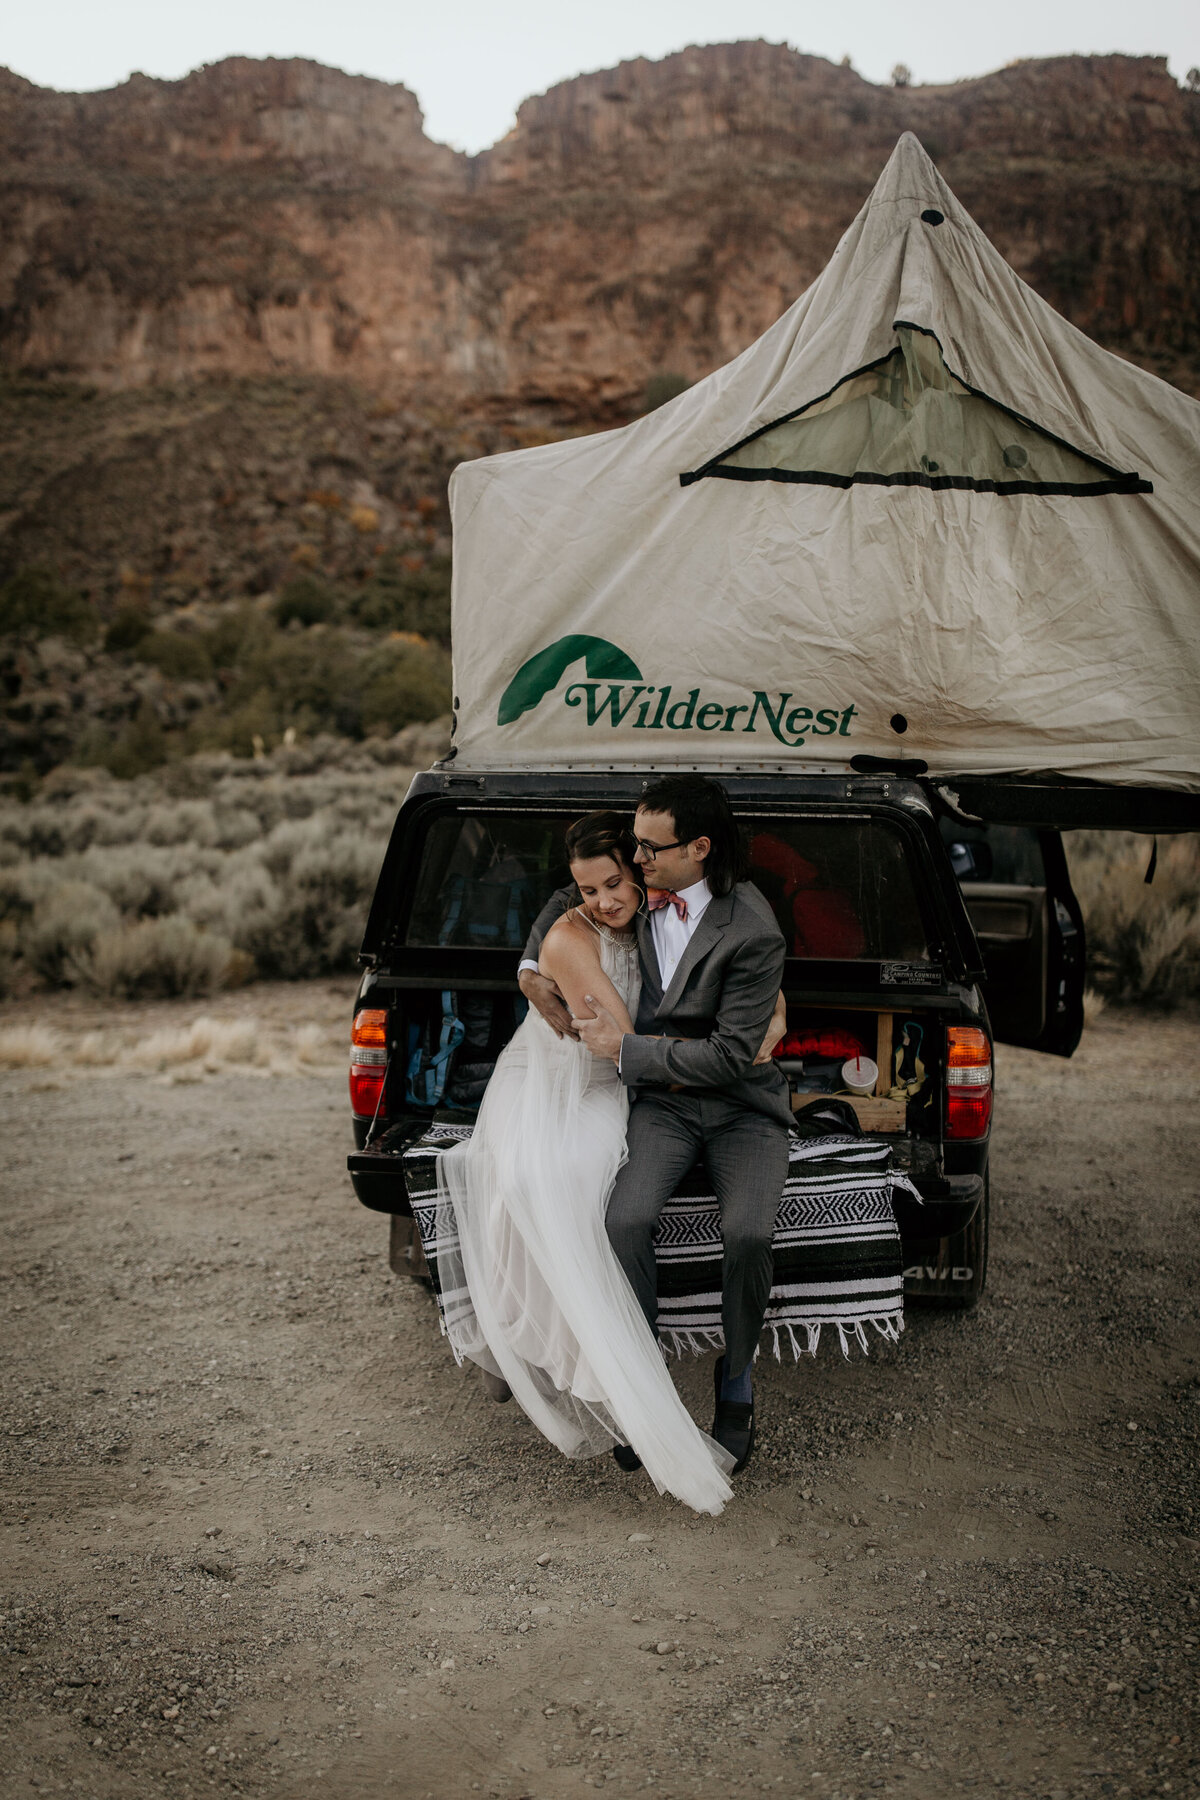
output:
M 524 1017 L 516 967 L 569 882 L 567 826 L 633 812 L 631 772 L 414 779 L 362 947 L 349 1157 L 358 1199 L 410 1235 L 403 1150 L 430 1123 L 470 1129 Z M 1069 1057 L 1083 1028 L 1083 920 L 1056 830 L 982 826 L 905 774 L 721 776 L 750 877 L 788 943 L 781 1046 L 793 1105 L 878 1067 L 853 1102 L 925 1199 L 898 1204 L 905 1292 L 973 1305 L 988 1273 L 993 1039 Z M 419 1247 L 416 1247 L 419 1249 Z

